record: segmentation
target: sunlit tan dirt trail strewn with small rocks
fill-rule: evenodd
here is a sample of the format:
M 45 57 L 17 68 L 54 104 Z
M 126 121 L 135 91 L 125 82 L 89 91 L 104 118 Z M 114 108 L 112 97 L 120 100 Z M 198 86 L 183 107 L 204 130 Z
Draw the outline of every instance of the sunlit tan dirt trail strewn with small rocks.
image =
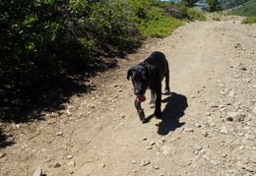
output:
M 256 25 L 239 18 L 193 22 L 147 40 L 66 110 L 13 124 L 7 133 L 16 144 L 1 148 L 0 175 L 32 175 L 37 167 L 47 176 L 255 175 L 255 45 Z M 168 59 L 172 93 L 162 95 L 162 120 L 142 124 L 126 73 L 156 50 Z

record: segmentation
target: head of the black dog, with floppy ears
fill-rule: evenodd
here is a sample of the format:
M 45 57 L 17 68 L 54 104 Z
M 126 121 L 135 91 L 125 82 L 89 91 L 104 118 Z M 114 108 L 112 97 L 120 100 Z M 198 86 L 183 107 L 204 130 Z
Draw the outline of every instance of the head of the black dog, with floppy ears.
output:
M 134 94 L 145 94 L 149 88 L 156 73 L 156 67 L 153 65 L 138 65 L 131 67 L 127 72 L 127 80 L 131 78 L 134 88 Z

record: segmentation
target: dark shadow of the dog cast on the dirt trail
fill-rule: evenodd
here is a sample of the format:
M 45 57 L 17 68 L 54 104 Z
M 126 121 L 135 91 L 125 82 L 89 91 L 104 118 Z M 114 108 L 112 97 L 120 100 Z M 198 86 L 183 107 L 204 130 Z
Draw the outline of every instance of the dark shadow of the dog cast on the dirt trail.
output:
M 167 135 L 170 131 L 174 131 L 180 128 L 185 123 L 180 123 L 179 119 L 185 114 L 184 111 L 188 107 L 187 97 L 176 92 L 171 92 L 170 96 L 161 100 L 161 104 L 165 105 L 162 110 L 162 117 L 159 127 L 158 134 Z M 146 119 L 149 122 L 153 118 L 153 115 Z

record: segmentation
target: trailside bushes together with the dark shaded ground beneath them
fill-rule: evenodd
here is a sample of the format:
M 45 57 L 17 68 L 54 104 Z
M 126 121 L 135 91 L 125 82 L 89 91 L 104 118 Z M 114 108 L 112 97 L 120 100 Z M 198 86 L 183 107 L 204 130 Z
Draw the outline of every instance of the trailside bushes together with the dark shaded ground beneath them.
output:
M 0 118 L 25 117 L 51 85 L 78 92 L 79 80 L 116 67 L 114 58 L 135 52 L 146 37 L 167 36 L 184 19 L 204 17 L 160 0 L 0 1 Z

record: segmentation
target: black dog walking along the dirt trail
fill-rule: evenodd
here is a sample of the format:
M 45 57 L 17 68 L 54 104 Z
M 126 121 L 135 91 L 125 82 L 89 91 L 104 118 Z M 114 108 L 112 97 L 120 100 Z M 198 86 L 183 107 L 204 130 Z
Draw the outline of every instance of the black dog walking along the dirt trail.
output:
M 169 93 L 169 68 L 164 54 L 159 51 L 153 52 L 144 62 L 128 70 L 127 79 L 129 80 L 130 77 L 132 78 L 134 93 L 137 95 L 135 107 L 141 121 L 145 121 L 141 102 L 146 100 L 144 94 L 147 88 L 151 89 L 150 107 L 156 107 L 154 115 L 160 118 L 161 81 L 163 77 L 165 77 L 165 93 Z

